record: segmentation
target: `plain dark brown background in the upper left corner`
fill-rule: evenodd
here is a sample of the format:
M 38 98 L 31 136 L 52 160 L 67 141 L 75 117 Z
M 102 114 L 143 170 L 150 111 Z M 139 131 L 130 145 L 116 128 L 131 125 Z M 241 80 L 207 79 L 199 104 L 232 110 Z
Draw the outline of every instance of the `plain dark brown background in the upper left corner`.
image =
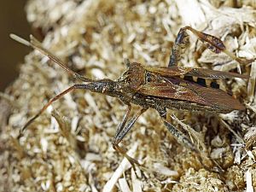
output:
M 15 80 L 19 66 L 24 56 L 30 51 L 21 44 L 9 38 L 9 33 L 15 33 L 28 38 L 31 33 L 26 21 L 26 1 L 1 1 L 0 3 L 0 91 L 3 91 Z

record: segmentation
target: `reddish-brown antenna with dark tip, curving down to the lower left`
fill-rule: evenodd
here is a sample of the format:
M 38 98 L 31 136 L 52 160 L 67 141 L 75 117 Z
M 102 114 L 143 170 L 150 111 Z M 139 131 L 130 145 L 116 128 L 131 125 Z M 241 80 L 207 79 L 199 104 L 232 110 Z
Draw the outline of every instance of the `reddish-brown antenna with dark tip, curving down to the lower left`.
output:
M 23 131 L 26 129 L 26 127 L 27 127 L 28 125 L 32 124 L 32 122 L 33 122 L 35 119 L 37 119 L 37 118 L 40 116 L 40 114 L 43 113 L 44 110 L 49 107 L 49 105 L 51 105 L 51 103 L 55 102 L 55 101 L 58 100 L 61 96 L 64 96 L 64 95 L 67 94 L 68 92 L 70 92 L 70 91 L 72 91 L 72 90 L 75 90 L 75 89 L 86 89 L 86 84 L 73 84 L 73 86 L 69 87 L 67 90 L 62 91 L 62 92 L 61 92 L 60 94 L 58 94 L 57 96 L 51 98 L 51 99 L 49 100 L 49 102 L 47 102 L 47 103 L 44 105 L 44 107 L 41 108 L 41 110 L 40 110 L 35 116 L 32 117 L 32 119 L 30 119 L 29 121 L 26 122 L 26 125 L 24 125 L 24 126 L 22 127 L 22 129 L 20 130 L 20 132 L 23 132 Z

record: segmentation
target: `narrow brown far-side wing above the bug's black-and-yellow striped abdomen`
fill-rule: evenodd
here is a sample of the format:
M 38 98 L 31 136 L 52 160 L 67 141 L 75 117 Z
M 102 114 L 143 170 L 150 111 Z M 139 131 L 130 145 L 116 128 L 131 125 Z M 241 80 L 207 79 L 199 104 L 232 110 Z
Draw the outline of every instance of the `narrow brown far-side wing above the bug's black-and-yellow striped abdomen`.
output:
M 241 78 L 248 79 L 248 75 L 238 73 L 215 71 L 207 68 L 193 68 L 193 67 L 145 67 L 148 72 L 158 73 L 164 77 L 173 76 L 194 76 L 204 79 L 232 79 Z

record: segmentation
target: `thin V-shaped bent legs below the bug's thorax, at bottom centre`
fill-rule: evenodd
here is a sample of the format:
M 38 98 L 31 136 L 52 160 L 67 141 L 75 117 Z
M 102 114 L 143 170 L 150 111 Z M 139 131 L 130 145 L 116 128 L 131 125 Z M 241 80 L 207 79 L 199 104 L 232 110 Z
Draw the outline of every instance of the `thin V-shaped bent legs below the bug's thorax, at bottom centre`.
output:
M 129 107 L 129 106 L 128 106 Z M 131 165 L 134 166 L 134 164 L 137 164 L 138 166 L 140 166 L 139 162 L 135 159 L 133 159 L 131 156 L 129 156 L 128 154 L 126 154 L 126 150 L 125 148 L 121 148 L 119 147 L 119 143 L 123 140 L 123 138 L 125 137 L 125 135 L 128 133 L 128 131 L 131 130 L 132 125 L 134 125 L 134 123 L 136 122 L 136 120 L 138 119 L 138 117 L 144 113 L 147 109 L 146 108 L 142 108 L 140 111 L 137 112 L 137 114 L 135 116 L 133 116 L 128 123 L 126 124 L 126 121 L 128 119 L 128 115 L 130 113 L 130 108 L 127 109 L 127 112 L 125 113 L 125 117 L 123 119 L 123 121 L 121 122 L 121 124 L 119 125 L 118 131 L 115 135 L 115 137 L 113 138 L 113 148 L 123 154 L 125 156 L 125 158 L 127 160 L 129 160 L 131 162 Z M 126 124 L 126 125 L 125 125 Z

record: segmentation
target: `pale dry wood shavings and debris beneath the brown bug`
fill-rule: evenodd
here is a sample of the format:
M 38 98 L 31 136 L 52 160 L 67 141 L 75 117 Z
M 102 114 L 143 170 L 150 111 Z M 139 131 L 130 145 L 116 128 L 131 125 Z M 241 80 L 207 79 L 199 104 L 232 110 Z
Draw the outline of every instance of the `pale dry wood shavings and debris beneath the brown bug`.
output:
M 125 70 L 124 58 L 166 66 L 177 32 L 185 25 L 222 38 L 241 57 L 256 58 L 255 8 L 252 0 L 34 0 L 28 1 L 26 13 L 44 47 L 74 71 L 94 79 L 116 79 Z M 256 62 L 241 66 L 195 44 L 195 37 L 190 40 L 180 65 L 252 76 L 248 85 L 243 79 L 220 82 L 246 104 L 245 112 L 220 116 L 169 112 L 174 124 L 190 125 L 198 132 L 205 153 L 224 173 L 205 170 L 189 149 L 176 143 L 154 110 L 138 119 L 123 144 L 144 166 L 161 174 L 133 170 L 111 145 L 125 106 L 84 90 L 55 102 L 18 140 L 20 127 L 42 103 L 73 84 L 60 67 L 32 51 L 20 67 L 20 77 L 1 95 L 0 190 L 255 190 Z M 56 111 L 51 114 L 52 108 Z M 175 121 L 172 113 L 181 121 Z

